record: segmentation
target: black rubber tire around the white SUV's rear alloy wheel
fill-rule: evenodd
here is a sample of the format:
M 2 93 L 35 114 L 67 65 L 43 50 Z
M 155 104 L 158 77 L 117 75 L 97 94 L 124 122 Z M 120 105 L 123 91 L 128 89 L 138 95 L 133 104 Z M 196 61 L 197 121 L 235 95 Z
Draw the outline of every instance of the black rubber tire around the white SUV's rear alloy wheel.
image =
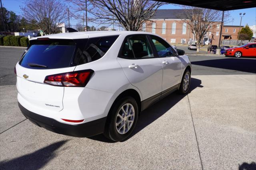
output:
M 125 104 L 131 104 L 134 107 L 134 113 L 135 113 L 134 121 L 132 123 L 132 126 L 126 133 L 120 134 L 118 133 L 117 127 L 116 127 L 116 120 L 117 120 L 116 117 L 121 107 L 124 106 Z M 108 113 L 108 119 L 104 129 L 104 136 L 112 141 L 116 141 L 116 142 L 124 141 L 131 135 L 132 131 L 134 130 L 134 127 L 136 126 L 137 120 L 138 120 L 138 104 L 136 100 L 130 96 L 122 97 L 118 99 L 116 103 L 114 103 L 114 106 L 111 108 L 110 112 Z

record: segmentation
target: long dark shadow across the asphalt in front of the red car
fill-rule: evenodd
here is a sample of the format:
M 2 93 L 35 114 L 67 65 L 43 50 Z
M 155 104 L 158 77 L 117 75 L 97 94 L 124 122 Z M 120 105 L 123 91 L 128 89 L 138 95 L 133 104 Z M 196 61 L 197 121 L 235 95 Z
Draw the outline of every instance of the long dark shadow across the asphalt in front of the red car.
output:
M 255 59 L 225 58 L 225 59 L 215 59 L 215 60 L 192 61 L 191 64 L 256 73 Z

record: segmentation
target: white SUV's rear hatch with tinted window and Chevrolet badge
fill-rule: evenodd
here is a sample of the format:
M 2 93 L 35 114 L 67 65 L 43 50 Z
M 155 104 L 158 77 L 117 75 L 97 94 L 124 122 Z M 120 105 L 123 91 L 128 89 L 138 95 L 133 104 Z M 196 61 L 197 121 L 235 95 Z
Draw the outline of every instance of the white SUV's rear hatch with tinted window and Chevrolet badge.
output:
M 79 47 L 74 40 L 32 40 L 30 47 L 16 64 L 20 96 L 33 106 L 51 111 L 62 110 L 64 87 L 45 84 L 44 80 L 48 75 L 73 71 L 77 54 Z

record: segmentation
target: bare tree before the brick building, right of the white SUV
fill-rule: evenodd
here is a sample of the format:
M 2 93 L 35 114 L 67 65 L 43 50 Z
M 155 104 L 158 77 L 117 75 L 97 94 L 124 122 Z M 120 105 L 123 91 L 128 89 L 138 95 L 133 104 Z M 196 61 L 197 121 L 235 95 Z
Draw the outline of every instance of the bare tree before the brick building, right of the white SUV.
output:
M 179 14 L 178 17 L 190 27 L 197 41 L 196 51 L 199 52 L 204 35 L 217 26 L 217 24 L 214 23 L 221 21 L 222 12 L 206 8 L 183 6 L 183 12 Z M 228 15 L 226 15 L 226 17 L 228 17 Z

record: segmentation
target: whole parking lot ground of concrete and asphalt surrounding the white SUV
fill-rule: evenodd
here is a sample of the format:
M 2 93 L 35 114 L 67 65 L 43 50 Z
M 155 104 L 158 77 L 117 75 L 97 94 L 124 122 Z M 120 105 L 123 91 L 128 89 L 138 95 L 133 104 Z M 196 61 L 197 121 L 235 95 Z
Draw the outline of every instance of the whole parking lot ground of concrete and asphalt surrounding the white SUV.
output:
M 149 107 L 132 137 L 113 143 L 52 133 L 22 115 L 13 69 L 23 51 L 0 47 L 0 169 L 256 168 L 256 58 L 188 55 L 190 93 Z

